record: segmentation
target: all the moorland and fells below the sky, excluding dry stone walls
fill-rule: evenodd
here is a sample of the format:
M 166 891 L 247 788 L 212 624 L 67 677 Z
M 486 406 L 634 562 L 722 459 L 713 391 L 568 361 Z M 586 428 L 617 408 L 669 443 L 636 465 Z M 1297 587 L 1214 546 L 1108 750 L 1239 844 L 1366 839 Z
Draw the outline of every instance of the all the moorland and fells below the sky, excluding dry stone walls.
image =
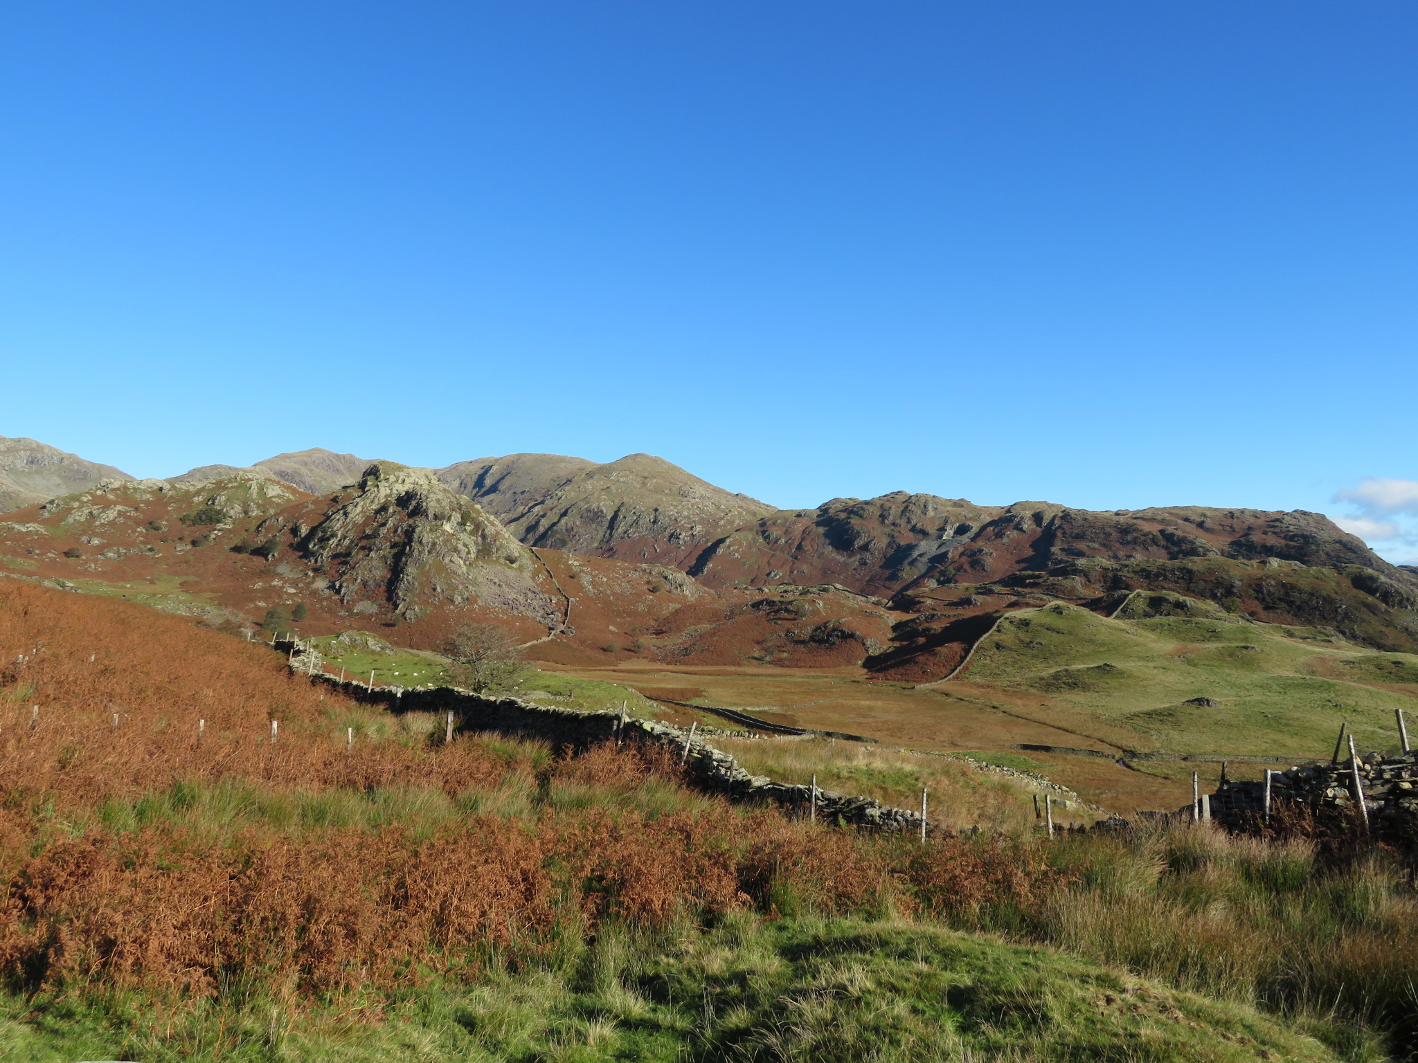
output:
M 0 510 L 16 1057 L 1418 1045 L 1408 849 L 1140 818 L 1222 761 L 1329 760 L 1340 721 L 1397 751 L 1418 571 L 1322 514 L 778 510 L 644 454 L 136 479 L 31 439 L 0 439 Z M 469 624 L 520 656 L 488 696 L 695 729 L 814 799 L 926 789 L 930 835 L 362 696 L 465 683 Z M 1049 846 L 1041 797 L 1076 828 Z

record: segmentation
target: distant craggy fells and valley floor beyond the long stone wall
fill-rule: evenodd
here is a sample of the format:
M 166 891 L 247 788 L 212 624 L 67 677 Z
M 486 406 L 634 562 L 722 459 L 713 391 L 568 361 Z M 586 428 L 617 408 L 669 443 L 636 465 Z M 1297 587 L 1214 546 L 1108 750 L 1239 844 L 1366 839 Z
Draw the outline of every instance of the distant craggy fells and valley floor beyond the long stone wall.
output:
M 1127 753 L 1313 758 L 1340 720 L 1391 748 L 1418 692 L 1418 571 L 1317 513 L 906 492 L 776 510 L 644 454 L 312 449 L 138 480 L 27 439 L 0 442 L 0 571 L 50 587 L 421 652 L 472 618 L 546 670 L 659 694 L 664 719 L 699 702 L 993 754 L 1120 814 L 1219 771 Z

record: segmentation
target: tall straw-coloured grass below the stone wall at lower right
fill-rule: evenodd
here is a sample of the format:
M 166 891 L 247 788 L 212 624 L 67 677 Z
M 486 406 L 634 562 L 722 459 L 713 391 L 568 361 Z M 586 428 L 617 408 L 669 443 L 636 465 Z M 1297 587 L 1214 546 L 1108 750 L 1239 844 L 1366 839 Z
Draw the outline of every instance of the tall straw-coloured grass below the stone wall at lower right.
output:
M 1073 836 L 1034 940 L 1282 1015 L 1418 1047 L 1418 897 L 1400 855 L 1333 860 L 1312 840 L 1207 826 Z

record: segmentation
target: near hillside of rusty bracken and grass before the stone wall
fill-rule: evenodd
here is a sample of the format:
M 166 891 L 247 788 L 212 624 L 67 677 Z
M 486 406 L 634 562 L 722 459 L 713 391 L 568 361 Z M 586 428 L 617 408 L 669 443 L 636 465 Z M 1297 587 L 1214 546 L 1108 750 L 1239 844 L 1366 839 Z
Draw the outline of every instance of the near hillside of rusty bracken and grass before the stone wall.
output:
M 20 581 L 0 659 L 0 1060 L 1357 1062 L 1418 1020 L 1378 859 L 859 835 Z

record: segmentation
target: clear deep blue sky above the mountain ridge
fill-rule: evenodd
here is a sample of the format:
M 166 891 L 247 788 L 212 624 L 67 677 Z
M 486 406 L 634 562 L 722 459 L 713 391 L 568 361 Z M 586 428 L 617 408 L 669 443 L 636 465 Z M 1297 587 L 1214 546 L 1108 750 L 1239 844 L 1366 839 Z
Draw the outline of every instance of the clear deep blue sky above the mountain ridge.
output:
M 1408 560 L 1415 31 L 10 4 L 0 434 L 135 475 L 648 451 L 781 506 L 1314 509 Z

